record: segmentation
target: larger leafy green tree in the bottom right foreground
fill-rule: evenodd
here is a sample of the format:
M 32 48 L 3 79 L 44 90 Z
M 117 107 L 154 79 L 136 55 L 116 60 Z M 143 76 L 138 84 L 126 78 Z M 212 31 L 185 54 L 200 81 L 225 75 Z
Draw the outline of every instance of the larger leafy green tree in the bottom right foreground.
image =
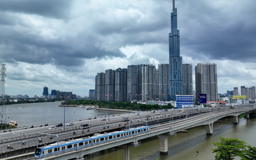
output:
M 216 149 L 212 153 L 217 153 L 215 155 L 215 160 L 232 160 L 234 157 L 242 157 L 243 149 L 247 147 L 245 141 L 240 141 L 238 138 L 223 138 L 219 137 L 221 142 L 213 142 Z

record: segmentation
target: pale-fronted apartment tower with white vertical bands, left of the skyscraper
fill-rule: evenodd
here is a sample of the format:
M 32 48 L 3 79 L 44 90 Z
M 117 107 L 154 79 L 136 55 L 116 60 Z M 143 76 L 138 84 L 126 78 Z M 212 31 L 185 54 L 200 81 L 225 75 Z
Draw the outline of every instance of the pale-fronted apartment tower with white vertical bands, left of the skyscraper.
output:
M 142 101 L 155 100 L 156 94 L 157 94 L 155 66 L 151 64 L 145 64 L 141 69 L 142 69 L 142 95 L 140 98 Z

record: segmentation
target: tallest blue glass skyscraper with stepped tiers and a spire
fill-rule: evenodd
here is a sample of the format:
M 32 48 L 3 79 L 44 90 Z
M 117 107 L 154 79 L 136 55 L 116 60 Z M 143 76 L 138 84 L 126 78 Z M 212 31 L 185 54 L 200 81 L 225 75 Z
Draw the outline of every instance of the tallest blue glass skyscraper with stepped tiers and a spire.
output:
M 170 100 L 175 101 L 176 95 L 183 95 L 182 57 L 179 53 L 179 30 L 177 29 L 175 0 L 173 0 L 173 13 L 171 13 L 171 33 L 169 33 L 169 72 Z

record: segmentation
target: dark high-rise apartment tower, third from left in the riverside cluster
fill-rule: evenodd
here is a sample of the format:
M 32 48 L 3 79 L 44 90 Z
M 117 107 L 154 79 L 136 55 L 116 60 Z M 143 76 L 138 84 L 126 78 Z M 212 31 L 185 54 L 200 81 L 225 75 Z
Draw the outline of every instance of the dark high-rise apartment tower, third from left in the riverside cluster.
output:
M 115 72 L 115 101 L 127 101 L 127 69 Z

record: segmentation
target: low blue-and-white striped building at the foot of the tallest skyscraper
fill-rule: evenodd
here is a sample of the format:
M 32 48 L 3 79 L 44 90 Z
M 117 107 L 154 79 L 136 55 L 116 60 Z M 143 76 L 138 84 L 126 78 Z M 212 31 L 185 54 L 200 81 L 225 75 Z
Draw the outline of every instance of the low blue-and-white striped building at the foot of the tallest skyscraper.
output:
M 194 96 L 193 95 L 176 95 L 177 108 L 193 108 Z

